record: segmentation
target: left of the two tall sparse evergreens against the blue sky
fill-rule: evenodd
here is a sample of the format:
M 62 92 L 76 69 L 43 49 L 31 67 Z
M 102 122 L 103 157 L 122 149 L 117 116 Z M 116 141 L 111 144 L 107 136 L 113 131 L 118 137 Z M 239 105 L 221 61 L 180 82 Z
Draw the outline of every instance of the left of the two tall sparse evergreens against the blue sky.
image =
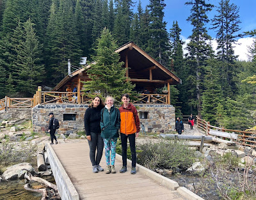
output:
M 188 17 L 188 21 L 193 26 L 192 35 L 189 36 L 191 40 L 188 43 L 188 59 L 190 59 L 190 68 L 193 68 L 191 75 L 196 77 L 195 84 L 191 87 L 196 88 L 196 101 L 193 100 L 197 105 L 198 115 L 201 116 L 201 92 L 202 92 L 202 80 L 204 79 L 204 65 L 205 60 L 209 58 L 212 49 L 207 40 L 211 40 L 211 36 L 207 34 L 205 24 L 209 22 L 207 12 L 212 10 L 213 5 L 205 3 L 204 0 L 191 0 L 185 4 L 192 6 L 191 15 Z

